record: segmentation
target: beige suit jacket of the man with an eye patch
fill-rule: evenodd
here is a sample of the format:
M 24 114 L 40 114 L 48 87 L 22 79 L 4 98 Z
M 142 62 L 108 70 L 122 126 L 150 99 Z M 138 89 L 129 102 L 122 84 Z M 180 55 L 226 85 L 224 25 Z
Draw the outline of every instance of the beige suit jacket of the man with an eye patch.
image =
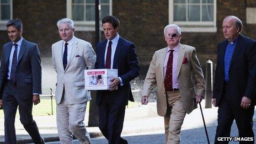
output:
M 160 116 L 166 115 L 167 100 L 166 90 L 164 88 L 164 58 L 167 47 L 154 53 L 147 76 L 143 84 L 142 95 L 149 96 L 153 87 L 157 86 L 157 113 Z M 188 62 L 183 63 L 184 57 Z M 196 56 L 195 47 L 182 45 L 179 46 L 177 76 L 180 97 L 182 98 L 186 113 L 191 113 L 196 108 L 194 95 L 205 95 L 204 74 Z

